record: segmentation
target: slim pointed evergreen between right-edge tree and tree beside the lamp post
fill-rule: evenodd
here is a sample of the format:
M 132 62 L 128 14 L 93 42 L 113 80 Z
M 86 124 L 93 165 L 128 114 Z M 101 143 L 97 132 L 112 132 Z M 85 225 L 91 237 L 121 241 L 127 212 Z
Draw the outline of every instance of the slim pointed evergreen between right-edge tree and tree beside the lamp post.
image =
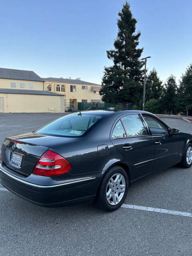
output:
M 162 95 L 162 108 L 170 115 L 176 111 L 176 78 L 172 74 L 168 77 L 164 84 Z

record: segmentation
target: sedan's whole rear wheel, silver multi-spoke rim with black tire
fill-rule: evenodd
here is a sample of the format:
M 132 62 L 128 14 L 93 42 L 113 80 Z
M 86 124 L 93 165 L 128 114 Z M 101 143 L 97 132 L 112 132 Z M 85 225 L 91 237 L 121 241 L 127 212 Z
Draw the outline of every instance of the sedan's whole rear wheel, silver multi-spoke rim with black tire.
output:
M 112 212 L 124 202 L 128 191 L 128 176 L 120 166 L 111 168 L 103 178 L 97 195 L 100 208 Z

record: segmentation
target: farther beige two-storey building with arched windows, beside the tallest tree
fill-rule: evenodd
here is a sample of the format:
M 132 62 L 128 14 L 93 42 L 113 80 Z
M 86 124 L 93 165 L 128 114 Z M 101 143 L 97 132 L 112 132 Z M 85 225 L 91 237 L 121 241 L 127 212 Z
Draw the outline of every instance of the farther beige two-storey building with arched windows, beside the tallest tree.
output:
M 77 79 L 43 78 L 45 90 L 55 92 L 65 97 L 66 109 L 77 109 L 77 102 L 102 102 L 99 94 L 100 85 Z

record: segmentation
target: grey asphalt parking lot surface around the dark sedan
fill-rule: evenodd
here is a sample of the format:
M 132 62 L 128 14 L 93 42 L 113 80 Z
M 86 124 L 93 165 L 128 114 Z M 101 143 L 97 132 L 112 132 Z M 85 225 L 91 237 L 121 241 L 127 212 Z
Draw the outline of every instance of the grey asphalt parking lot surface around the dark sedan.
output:
M 36 130 L 60 116 L 0 114 L 0 144 L 6 136 Z M 191 123 L 164 121 L 192 133 Z M 178 165 L 140 180 L 124 204 L 129 208 L 112 213 L 96 204 L 43 208 L 0 186 L 0 256 L 192 255 L 192 168 Z

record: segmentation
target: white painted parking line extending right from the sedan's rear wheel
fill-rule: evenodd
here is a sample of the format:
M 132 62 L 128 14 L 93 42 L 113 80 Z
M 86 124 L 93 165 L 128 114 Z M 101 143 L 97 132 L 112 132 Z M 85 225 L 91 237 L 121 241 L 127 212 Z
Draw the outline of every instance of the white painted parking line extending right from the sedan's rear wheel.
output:
M 132 204 L 122 204 L 121 207 L 123 207 L 123 208 L 130 208 L 130 209 L 136 209 L 136 210 L 150 211 L 150 212 L 161 212 L 161 213 L 166 213 L 166 214 L 174 214 L 174 215 L 192 217 L 192 213 L 190 213 L 190 212 L 178 212 L 178 211 L 159 209 L 159 208 L 152 208 L 152 207 L 146 207 L 146 206 L 138 206 L 138 205 L 132 205 Z

